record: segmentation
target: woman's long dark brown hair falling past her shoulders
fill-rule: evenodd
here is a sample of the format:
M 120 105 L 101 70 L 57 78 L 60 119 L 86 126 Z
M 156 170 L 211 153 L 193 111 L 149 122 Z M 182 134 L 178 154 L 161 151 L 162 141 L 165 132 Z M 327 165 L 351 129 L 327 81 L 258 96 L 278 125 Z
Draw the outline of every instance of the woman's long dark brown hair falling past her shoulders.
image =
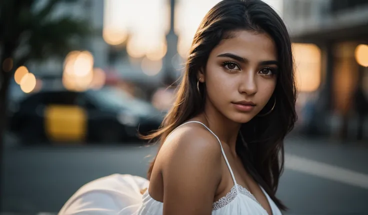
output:
M 286 207 L 275 197 L 283 171 L 283 139 L 296 121 L 296 87 L 293 74 L 291 42 L 282 19 L 261 0 L 222 0 L 203 18 L 191 45 L 177 98 L 159 130 L 144 139 L 156 140 L 162 146 L 167 135 L 177 126 L 200 114 L 204 108 L 204 84 L 196 88 L 197 72 L 205 68 L 209 53 L 235 30 L 267 33 L 274 41 L 279 61 L 277 83 L 269 104 L 270 114 L 254 117 L 240 128 L 236 153 L 253 179 L 267 192 L 277 207 Z M 150 164 L 150 178 L 154 161 Z

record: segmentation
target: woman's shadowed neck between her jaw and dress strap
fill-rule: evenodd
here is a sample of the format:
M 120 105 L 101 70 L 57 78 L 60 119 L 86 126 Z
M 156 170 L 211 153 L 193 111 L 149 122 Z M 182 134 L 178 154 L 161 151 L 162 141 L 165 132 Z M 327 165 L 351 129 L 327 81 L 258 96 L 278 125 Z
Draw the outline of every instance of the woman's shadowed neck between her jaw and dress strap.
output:
M 241 123 L 236 123 L 226 118 L 209 101 L 206 101 L 205 104 L 203 113 L 198 117 L 205 121 L 209 129 L 220 139 L 221 143 L 227 144 L 231 153 L 236 155 L 236 138 Z

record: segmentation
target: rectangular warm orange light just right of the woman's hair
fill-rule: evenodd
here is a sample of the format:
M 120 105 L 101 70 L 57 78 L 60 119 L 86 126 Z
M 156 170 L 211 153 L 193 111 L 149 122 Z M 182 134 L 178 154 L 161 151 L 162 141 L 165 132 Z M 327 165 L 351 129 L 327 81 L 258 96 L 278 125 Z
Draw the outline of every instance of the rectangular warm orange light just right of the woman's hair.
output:
M 298 89 L 312 92 L 318 89 L 321 75 L 321 52 L 315 44 L 293 43 L 295 75 Z

